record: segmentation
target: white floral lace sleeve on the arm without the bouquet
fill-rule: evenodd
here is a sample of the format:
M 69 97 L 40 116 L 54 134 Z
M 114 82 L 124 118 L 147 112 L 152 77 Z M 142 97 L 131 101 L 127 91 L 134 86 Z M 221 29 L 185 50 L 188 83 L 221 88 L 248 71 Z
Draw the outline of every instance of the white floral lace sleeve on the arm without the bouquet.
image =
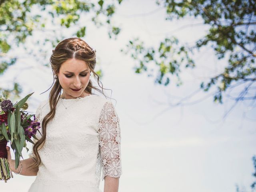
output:
M 113 104 L 106 102 L 100 113 L 98 125 L 102 181 L 107 175 L 119 178 L 122 174 L 119 122 Z

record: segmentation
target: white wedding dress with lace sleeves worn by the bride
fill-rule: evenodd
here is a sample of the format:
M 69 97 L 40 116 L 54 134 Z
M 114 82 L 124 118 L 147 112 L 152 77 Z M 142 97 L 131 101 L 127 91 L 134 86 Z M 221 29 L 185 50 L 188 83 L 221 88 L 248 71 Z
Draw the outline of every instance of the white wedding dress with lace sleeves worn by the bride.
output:
M 42 102 L 37 120 L 42 123 L 49 111 L 48 101 Z M 101 170 L 102 180 L 122 174 L 119 122 L 112 102 L 102 96 L 60 99 L 38 150 L 42 162 L 28 192 L 101 192 Z M 36 136 L 41 137 L 39 132 Z

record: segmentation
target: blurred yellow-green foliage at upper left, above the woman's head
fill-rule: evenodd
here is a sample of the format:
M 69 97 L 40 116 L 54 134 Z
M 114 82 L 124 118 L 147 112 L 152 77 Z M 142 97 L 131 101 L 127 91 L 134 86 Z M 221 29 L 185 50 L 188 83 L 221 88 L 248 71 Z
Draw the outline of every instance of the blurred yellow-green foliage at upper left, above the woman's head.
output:
M 26 49 L 26 39 L 33 36 L 34 31 L 56 32 L 55 29 L 47 28 L 49 19 L 52 25 L 61 29 L 75 28 L 73 35 L 82 38 L 86 35 L 86 25 L 81 26 L 79 21 L 81 16 L 87 16 L 97 27 L 108 27 L 110 38 L 116 36 L 120 28 L 112 24 L 111 18 L 121 2 L 122 0 L 100 0 L 95 3 L 89 0 L 0 0 L 0 75 L 18 59 L 8 53 L 20 45 Z M 40 39 L 38 44 L 43 41 L 43 45 L 50 42 L 55 46 L 60 40 L 62 37 L 56 35 L 55 38 Z M 14 85 L 14 90 L 5 91 L 19 94 L 21 90 L 17 85 Z

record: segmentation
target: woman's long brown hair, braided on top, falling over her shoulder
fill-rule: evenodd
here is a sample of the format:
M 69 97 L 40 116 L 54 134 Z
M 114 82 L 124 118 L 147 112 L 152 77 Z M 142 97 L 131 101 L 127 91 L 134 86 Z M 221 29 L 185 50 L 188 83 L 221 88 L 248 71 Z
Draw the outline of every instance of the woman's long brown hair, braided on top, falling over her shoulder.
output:
M 86 93 L 92 94 L 92 89 L 97 90 L 98 92 L 102 93 L 105 97 L 106 95 L 103 92 L 103 85 L 100 82 L 100 77 L 94 71 L 96 65 L 96 50 L 93 50 L 84 40 L 80 38 L 68 38 L 62 40 L 54 50 L 52 50 L 52 56 L 50 57 L 50 64 L 52 66 L 53 74 L 56 74 L 60 70 L 60 66 L 68 59 L 76 58 L 79 60 L 83 60 L 88 65 L 90 71 L 93 73 L 94 77 L 97 77 L 97 82 L 99 87 L 98 89 L 92 85 L 92 81 L 89 80 L 89 83 L 84 90 Z M 28 168 L 32 167 L 32 169 L 38 168 L 41 163 L 41 158 L 38 154 L 38 150 L 42 148 L 46 140 L 46 126 L 48 122 L 50 122 L 55 115 L 56 112 L 56 105 L 58 100 L 60 99 L 62 87 L 60 86 L 60 82 L 57 77 L 54 78 L 56 81 L 53 82 L 52 90 L 49 94 L 49 105 L 50 105 L 50 112 L 44 116 L 43 120 L 41 121 L 42 127 L 42 137 L 35 142 L 33 146 L 33 152 L 35 155 L 35 162 L 34 164 L 30 165 Z M 108 90 L 108 89 L 106 89 Z M 38 147 L 40 146 L 40 149 Z

